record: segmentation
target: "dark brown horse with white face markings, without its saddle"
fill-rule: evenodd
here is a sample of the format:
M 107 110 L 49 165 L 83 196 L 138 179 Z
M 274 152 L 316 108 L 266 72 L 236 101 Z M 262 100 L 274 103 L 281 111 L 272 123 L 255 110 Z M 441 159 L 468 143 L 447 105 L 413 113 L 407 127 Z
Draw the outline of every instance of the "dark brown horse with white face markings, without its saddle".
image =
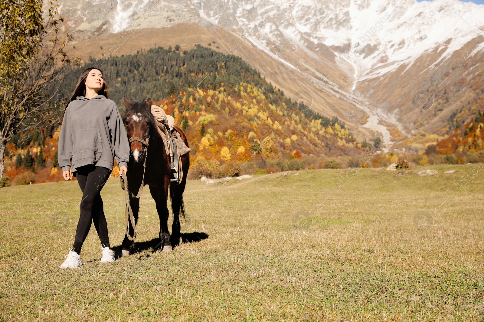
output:
M 171 171 L 169 155 L 166 154 L 165 142 L 158 130 L 156 129 L 156 120 L 151 114 L 151 98 L 144 102 L 134 102 L 124 97 L 126 111 L 123 115 L 123 123 L 126 124 L 126 133 L 130 140 L 130 158 L 128 162 L 128 179 L 129 203 L 133 210 L 135 224 L 138 222 L 139 198 L 134 198 L 139 189 L 142 189 L 141 182 L 148 184 L 150 193 L 156 203 L 156 211 L 160 217 L 160 246 L 162 251 L 171 251 L 180 243 L 180 217 L 185 218 L 183 205 L 183 191 L 185 190 L 186 176 L 190 166 L 190 153 L 181 156 L 183 168 L 183 178 L 178 184 L 169 181 Z M 180 134 L 181 139 L 188 146 L 185 134 L 175 126 Z M 146 159 L 146 169 L 143 165 Z M 144 177 L 143 177 L 144 174 Z M 173 211 L 172 236 L 168 231 L 168 185 L 170 186 L 171 209 Z M 134 236 L 134 229 L 128 223 L 127 227 L 131 238 Z M 135 248 L 135 241 L 124 236 L 122 242 L 122 254 L 128 255 Z

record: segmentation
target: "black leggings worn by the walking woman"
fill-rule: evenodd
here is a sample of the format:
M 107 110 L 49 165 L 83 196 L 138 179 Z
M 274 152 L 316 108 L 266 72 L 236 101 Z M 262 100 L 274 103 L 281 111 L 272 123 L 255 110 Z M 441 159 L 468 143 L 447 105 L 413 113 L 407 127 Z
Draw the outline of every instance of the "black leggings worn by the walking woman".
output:
M 105 167 L 96 167 L 92 164 L 76 168 L 73 175 L 77 178 L 82 190 L 81 214 L 77 223 L 76 239 L 74 240 L 74 251 L 80 254 L 82 244 L 91 229 L 91 222 L 94 222 L 97 235 L 101 245 L 109 245 L 107 235 L 107 222 L 104 216 L 103 199 L 101 199 L 101 189 L 106 183 L 111 170 Z

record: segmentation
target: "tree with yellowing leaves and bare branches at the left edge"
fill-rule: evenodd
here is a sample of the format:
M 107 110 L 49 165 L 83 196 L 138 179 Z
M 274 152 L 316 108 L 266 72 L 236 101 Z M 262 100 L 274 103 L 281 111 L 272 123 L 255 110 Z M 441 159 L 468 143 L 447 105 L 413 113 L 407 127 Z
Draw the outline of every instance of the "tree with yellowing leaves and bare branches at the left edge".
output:
M 0 1 L 0 180 L 15 134 L 59 122 L 56 88 L 66 67 L 79 65 L 63 50 L 72 35 L 58 8 L 56 0 L 46 10 L 42 0 Z

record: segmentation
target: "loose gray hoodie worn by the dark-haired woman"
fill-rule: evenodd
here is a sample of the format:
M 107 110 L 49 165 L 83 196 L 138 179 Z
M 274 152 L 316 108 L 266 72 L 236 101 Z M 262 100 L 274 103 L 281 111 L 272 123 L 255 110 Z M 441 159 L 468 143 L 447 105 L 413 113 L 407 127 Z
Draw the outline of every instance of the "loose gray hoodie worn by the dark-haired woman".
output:
M 62 171 L 88 164 L 112 170 L 114 157 L 128 166 L 130 146 L 116 103 L 104 95 L 78 96 L 62 119 L 57 159 Z

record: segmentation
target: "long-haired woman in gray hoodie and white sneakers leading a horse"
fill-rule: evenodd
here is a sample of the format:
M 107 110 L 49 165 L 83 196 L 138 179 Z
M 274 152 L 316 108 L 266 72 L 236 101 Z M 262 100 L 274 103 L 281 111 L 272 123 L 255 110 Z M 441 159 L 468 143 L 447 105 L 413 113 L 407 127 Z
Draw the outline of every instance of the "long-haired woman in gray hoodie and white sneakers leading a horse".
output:
M 114 156 L 126 174 L 130 146 L 121 114 L 116 103 L 107 99 L 107 84 L 103 72 L 88 68 L 79 76 L 76 88 L 62 114 L 58 161 L 62 177 L 74 175 L 82 191 L 81 210 L 73 248 L 62 268 L 82 265 L 80 252 L 91 222 L 101 240 L 101 263 L 113 262 L 107 234 L 103 200 L 99 194 L 114 165 Z M 71 169 L 72 163 L 72 170 Z M 64 257 L 64 258 L 65 258 Z

